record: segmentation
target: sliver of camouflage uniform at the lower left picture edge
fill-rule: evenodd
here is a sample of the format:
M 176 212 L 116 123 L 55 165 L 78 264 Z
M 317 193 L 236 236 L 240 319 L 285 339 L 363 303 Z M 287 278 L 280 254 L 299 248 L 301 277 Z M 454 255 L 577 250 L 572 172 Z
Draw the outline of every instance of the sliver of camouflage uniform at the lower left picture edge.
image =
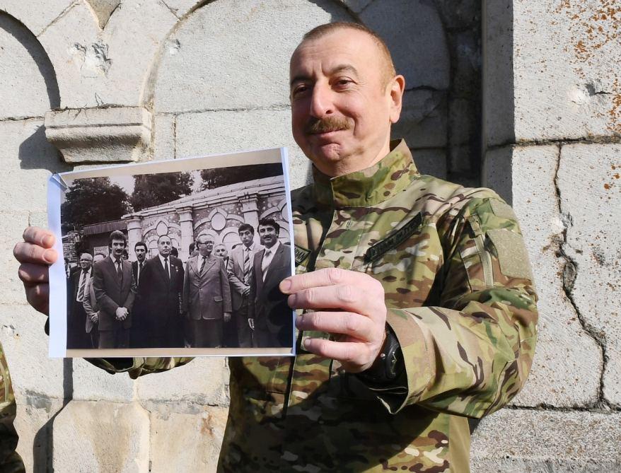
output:
M 15 451 L 18 436 L 13 427 L 16 404 L 11 386 L 11 375 L 0 346 L 0 471 L 7 473 L 25 472 L 21 457 Z

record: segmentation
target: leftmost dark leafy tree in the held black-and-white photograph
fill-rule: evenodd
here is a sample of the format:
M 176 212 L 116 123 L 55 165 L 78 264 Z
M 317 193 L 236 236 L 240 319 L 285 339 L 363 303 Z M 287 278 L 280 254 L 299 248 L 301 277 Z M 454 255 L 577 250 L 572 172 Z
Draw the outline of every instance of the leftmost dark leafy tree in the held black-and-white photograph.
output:
M 129 211 L 128 199 L 127 193 L 108 177 L 77 179 L 60 208 L 63 233 L 120 219 Z

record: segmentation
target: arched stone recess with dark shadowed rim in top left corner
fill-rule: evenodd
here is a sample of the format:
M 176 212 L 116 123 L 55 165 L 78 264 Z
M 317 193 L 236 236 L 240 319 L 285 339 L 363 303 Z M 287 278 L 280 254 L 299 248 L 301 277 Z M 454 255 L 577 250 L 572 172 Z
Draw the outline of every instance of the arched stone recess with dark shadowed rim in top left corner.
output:
M 54 69 L 45 51 L 33 33 L 1 12 L 0 45 L 0 119 L 41 117 L 50 107 L 58 106 Z

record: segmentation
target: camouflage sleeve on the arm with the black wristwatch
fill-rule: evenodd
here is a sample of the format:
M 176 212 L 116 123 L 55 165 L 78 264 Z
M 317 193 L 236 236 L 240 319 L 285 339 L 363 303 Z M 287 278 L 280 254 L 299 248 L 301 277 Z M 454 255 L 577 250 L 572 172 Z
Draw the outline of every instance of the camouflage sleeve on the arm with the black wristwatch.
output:
M 439 306 L 389 310 L 405 361 L 389 411 L 419 404 L 480 418 L 521 389 L 535 350 L 537 296 L 511 207 L 471 199 L 437 223 L 445 264 Z

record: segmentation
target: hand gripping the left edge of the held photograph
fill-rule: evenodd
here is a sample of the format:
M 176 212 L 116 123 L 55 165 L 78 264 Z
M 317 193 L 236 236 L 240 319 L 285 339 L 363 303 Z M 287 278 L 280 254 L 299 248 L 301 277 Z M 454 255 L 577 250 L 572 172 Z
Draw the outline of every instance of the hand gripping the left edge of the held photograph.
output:
M 20 262 L 19 279 L 23 281 L 26 300 L 36 310 L 47 315 L 50 311 L 50 284 L 48 269 L 58 258 L 54 234 L 43 228 L 28 227 L 23 242 L 13 248 L 13 255 Z

